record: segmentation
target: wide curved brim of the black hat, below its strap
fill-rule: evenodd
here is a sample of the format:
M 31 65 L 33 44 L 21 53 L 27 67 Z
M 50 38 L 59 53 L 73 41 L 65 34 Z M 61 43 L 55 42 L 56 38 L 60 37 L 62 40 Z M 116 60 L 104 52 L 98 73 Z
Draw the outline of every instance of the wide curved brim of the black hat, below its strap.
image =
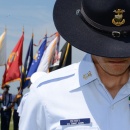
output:
M 72 46 L 103 57 L 130 57 L 130 38 L 114 38 L 95 31 L 76 15 L 81 0 L 57 0 L 53 10 L 54 24 L 60 35 Z

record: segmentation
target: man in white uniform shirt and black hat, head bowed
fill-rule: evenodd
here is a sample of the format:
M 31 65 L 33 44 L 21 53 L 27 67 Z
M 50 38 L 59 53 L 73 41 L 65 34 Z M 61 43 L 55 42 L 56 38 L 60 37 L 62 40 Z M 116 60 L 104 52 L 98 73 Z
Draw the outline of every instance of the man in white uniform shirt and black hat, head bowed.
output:
M 129 130 L 130 2 L 57 0 L 53 16 L 89 54 L 33 83 L 19 130 Z

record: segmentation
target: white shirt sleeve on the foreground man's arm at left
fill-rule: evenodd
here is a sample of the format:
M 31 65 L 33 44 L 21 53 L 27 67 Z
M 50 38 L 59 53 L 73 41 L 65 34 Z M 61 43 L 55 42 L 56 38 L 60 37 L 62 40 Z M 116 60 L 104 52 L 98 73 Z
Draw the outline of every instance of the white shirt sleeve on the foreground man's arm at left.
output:
M 20 116 L 19 130 L 46 130 L 42 99 L 36 89 L 31 90 L 25 101 Z

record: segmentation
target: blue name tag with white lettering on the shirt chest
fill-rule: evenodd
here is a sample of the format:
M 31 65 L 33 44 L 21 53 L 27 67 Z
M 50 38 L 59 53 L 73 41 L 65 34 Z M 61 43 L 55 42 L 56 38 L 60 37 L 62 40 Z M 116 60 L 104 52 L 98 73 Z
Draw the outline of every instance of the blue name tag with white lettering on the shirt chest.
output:
M 90 124 L 90 118 L 60 120 L 60 125 Z

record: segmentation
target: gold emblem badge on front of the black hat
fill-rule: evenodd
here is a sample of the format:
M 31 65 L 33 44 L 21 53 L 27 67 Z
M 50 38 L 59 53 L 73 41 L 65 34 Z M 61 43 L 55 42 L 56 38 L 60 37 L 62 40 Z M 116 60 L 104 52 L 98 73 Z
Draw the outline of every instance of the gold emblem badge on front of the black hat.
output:
M 123 9 L 117 9 L 113 11 L 116 13 L 115 17 L 112 19 L 112 23 L 116 26 L 121 26 L 125 23 L 125 19 L 123 19 L 123 13 L 125 10 Z

